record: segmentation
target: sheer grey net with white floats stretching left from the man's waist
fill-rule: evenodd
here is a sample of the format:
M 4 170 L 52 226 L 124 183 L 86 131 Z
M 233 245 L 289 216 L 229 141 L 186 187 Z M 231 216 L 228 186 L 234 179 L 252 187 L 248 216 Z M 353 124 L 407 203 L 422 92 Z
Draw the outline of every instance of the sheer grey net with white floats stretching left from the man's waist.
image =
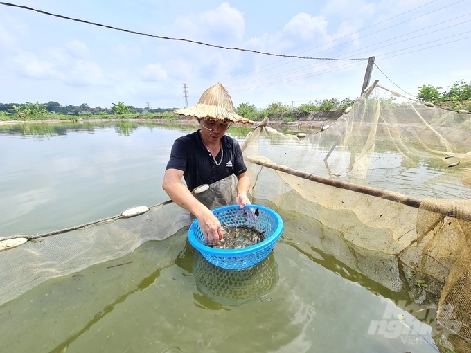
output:
M 231 203 L 232 177 L 197 190 L 209 207 Z M 1 238 L 28 242 L 0 252 L 0 305 L 17 298 L 51 278 L 75 273 L 123 257 L 150 240 L 163 240 L 195 219 L 171 201 L 148 208 L 140 206 L 109 217 L 55 232 Z M 168 253 L 170 260 L 170 253 Z

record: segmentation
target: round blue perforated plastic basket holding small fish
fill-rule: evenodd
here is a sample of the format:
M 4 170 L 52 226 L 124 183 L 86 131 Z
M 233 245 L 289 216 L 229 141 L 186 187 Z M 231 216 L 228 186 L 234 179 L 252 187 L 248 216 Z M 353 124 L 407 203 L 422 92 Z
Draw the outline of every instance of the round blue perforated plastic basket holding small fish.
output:
M 254 210 L 258 208 L 258 216 Z M 240 208 L 239 205 L 224 206 L 212 210 L 221 224 L 228 226 L 253 226 L 259 232 L 264 232 L 265 240 L 258 244 L 238 249 L 218 249 L 207 246 L 204 235 L 195 219 L 188 230 L 188 241 L 199 251 L 203 257 L 223 269 L 247 269 L 265 259 L 272 251 L 276 240 L 283 233 L 283 219 L 274 210 L 267 207 L 247 205 Z

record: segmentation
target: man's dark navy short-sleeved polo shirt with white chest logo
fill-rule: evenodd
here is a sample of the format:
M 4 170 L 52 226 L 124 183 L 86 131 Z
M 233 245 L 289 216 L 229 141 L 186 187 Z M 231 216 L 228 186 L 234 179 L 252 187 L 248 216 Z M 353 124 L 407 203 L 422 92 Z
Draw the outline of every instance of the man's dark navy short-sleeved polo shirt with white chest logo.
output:
M 183 171 L 183 177 L 190 191 L 199 185 L 215 183 L 231 174 L 238 176 L 247 171 L 242 150 L 235 139 L 226 135 L 222 136 L 224 156 L 221 164 L 216 165 L 213 156 L 203 144 L 199 131 L 175 140 L 166 168 L 166 170 L 171 168 Z M 216 156 L 218 163 L 220 160 L 221 152 Z

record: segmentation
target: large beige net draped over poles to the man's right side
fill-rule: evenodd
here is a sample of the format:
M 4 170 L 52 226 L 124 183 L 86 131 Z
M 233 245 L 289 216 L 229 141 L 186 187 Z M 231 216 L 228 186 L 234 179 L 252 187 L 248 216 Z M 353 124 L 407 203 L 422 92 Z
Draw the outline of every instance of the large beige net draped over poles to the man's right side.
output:
M 441 346 L 454 333 L 471 352 L 470 123 L 375 82 L 317 131 L 283 134 L 265 121 L 249 134 L 251 193 L 321 222 L 296 237 L 306 253 L 438 304 Z

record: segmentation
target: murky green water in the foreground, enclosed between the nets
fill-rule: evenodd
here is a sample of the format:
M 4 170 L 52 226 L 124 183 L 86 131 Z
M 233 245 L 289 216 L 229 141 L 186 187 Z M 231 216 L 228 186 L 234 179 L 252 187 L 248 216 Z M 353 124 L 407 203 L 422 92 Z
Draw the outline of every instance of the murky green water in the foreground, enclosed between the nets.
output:
M 168 252 L 173 261 L 159 260 Z M 391 293 L 286 240 L 245 275 L 202 262 L 182 230 L 45 282 L 0 307 L 2 352 L 434 352 L 426 323 L 417 321 L 423 338 L 391 326 L 409 316 Z

